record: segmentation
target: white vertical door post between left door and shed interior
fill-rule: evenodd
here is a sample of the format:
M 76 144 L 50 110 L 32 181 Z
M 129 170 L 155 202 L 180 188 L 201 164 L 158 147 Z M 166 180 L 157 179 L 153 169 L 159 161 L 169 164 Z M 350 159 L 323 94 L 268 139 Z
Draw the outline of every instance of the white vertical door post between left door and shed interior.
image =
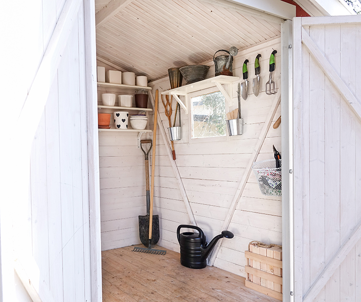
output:
M 95 3 L 84 0 L 85 68 L 89 165 L 90 283 L 91 301 L 102 301 L 102 267 L 100 241 L 100 185 L 98 110 L 96 87 Z

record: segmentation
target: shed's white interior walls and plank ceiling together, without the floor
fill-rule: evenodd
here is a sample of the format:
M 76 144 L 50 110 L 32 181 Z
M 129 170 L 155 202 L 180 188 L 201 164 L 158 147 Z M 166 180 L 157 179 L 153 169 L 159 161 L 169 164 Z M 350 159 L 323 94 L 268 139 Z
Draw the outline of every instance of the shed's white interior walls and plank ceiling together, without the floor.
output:
M 274 159 L 272 145 L 282 150 L 281 126 L 272 127 L 281 115 L 281 19 L 246 7 L 240 10 L 226 1 L 218 2 L 128 0 L 118 4 L 114 10 L 117 13 L 113 15 L 110 13 L 113 1 L 95 0 L 97 66 L 105 67 L 106 71 L 147 76 L 153 96 L 157 89 L 159 91 L 161 123 L 154 144 L 154 214 L 159 215 L 158 245 L 179 252 L 177 227 L 194 224 L 194 221 L 203 229 L 208 242 L 228 229 L 234 233 L 234 238 L 223 240 L 210 261 L 217 268 L 246 277 L 245 250 L 250 241 L 282 244 L 282 198 L 262 195 L 250 170 L 254 161 Z M 238 107 L 237 85 L 244 81 L 242 66 L 249 60 L 249 94 L 247 100 L 241 98 L 243 134 L 229 136 L 226 132 L 225 136 L 194 139 L 191 110 L 186 114 L 181 109 L 182 136 L 181 140 L 174 141 L 176 161 L 172 162 L 168 151 L 168 119 L 160 100 L 161 92 L 170 89 L 168 68 L 203 64 L 209 66 L 206 78 L 212 78 L 215 74 L 213 55 L 231 46 L 238 49 L 233 60 L 233 76 L 239 79 L 231 84 L 232 101 L 226 101 L 226 112 Z M 278 93 L 268 95 L 265 85 L 273 50 L 278 51 L 272 75 Z M 257 54 L 261 54 L 261 73 L 260 93 L 256 97 L 252 92 L 252 80 Z M 214 85 L 213 90 L 192 96 L 216 90 Z M 104 92 L 125 93 L 121 88 L 98 85 L 98 105 L 102 104 Z M 175 100 L 172 107 L 174 112 Z M 151 98 L 148 108 L 152 108 Z M 112 113 L 112 110 L 101 109 L 101 112 Z M 153 111 L 148 114 L 147 129 L 152 130 Z M 159 125 L 165 129 L 166 142 Z M 146 213 L 146 190 L 144 155 L 138 148 L 137 137 L 137 132 L 99 131 L 102 251 L 140 243 L 138 215 Z M 152 139 L 153 133 L 144 133 L 142 139 L 145 138 Z

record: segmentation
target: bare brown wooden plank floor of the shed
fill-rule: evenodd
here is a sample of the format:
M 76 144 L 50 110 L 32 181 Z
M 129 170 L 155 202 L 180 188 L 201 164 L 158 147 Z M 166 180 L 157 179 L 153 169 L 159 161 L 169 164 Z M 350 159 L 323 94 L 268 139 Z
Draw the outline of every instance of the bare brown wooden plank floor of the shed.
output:
M 184 267 L 177 252 L 155 255 L 132 250 L 102 252 L 103 302 L 279 302 L 246 288 L 245 278 L 219 268 Z

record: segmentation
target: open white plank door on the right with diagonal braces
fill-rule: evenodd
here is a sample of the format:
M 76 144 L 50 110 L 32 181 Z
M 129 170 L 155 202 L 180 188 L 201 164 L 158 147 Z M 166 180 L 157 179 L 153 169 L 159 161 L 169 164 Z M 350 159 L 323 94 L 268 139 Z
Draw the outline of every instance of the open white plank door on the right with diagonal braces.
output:
M 361 301 L 361 16 L 293 22 L 294 301 Z

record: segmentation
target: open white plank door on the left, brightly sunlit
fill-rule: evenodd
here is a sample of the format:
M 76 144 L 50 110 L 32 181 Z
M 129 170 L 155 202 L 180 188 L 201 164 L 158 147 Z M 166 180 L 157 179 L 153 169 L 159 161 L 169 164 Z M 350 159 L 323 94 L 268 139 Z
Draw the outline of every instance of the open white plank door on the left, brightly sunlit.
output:
M 1 90 L 5 92 L 4 99 L 11 101 L 3 104 L 1 128 L 8 125 L 9 129 L 9 125 L 14 125 L 12 129 L 15 130 L 1 132 L 3 149 L 10 148 L 4 151 L 6 156 L 1 154 L 4 167 L 0 190 L 1 279 L 2 284 L 7 284 L 6 287 L 2 285 L 1 301 L 30 299 L 16 275 L 4 275 L 5 266 L 11 267 L 8 272 L 15 274 L 15 259 L 20 264 L 15 264 L 18 274 L 27 274 L 25 283 L 36 296 L 32 296 L 35 300 L 31 301 L 40 301 L 40 298 L 48 302 L 85 302 L 95 298 L 90 284 L 92 198 L 89 191 L 93 188 L 89 187 L 88 146 L 91 148 L 91 142 L 88 142 L 88 134 L 91 130 L 88 119 L 91 112 L 87 110 L 87 100 L 91 100 L 88 94 L 91 85 L 87 85 L 91 76 L 91 70 L 87 69 L 91 66 L 91 51 L 85 46 L 89 10 L 88 2 L 66 0 L 8 2 L 2 9 L 7 14 L 1 14 L 1 20 L 8 22 L 9 39 L 4 41 L 8 41 L 9 51 L 4 55 L 8 73 L 4 71 L 4 78 L 1 78 L 6 89 L 1 85 Z M 57 47 L 58 41 L 63 42 L 60 47 Z M 11 64 L 11 69 L 6 68 L 7 63 Z M 21 146 L 24 150 L 11 149 L 17 146 L 16 136 L 21 135 L 17 125 L 20 123 L 24 132 L 31 127 L 21 124 L 17 118 L 31 93 L 34 100 L 34 86 L 38 85 L 36 81 L 40 77 L 43 89 L 49 90 L 49 94 L 33 142 L 27 146 L 26 139 L 31 141 L 32 136 L 24 136 Z M 44 100 L 42 97 L 39 95 L 35 102 L 45 103 L 46 95 Z M 31 112 L 35 127 L 37 106 Z M 13 135 L 10 144 L 8 133 Z M 15 156 L 17 158 L 13 158 Z M 9 163 L 15 171 L 8 169 Z M 3 246 L 5 237 L 6 247 Z M 94 283 L 93 289 L 96 287 Z

